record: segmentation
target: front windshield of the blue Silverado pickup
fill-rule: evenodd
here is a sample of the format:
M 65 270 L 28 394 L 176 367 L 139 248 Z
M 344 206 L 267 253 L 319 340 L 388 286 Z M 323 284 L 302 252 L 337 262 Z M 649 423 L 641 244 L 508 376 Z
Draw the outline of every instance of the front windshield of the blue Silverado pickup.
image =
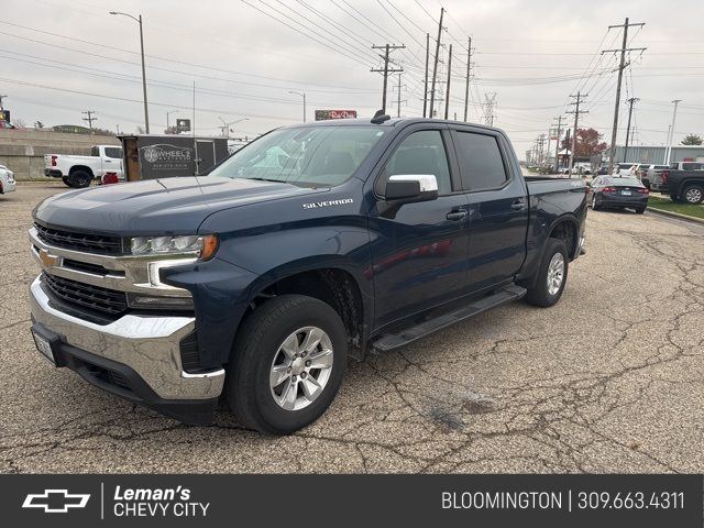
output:
M 333 187 L 354 174 L 384 133 L 380 127 L 279 129 L 232 154 L 210 176 Z

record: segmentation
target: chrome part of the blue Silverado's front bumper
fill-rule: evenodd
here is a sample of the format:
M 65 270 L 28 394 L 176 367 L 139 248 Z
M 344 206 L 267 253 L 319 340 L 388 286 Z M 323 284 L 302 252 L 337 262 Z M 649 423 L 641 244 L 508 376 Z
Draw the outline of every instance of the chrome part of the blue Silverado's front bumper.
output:
M 161 398 L 207 399 L 222 393 L 224 370 L 183 371 L 179 341 L 195 329 L 193 317 L 128 314 L 109 324 L 95 324 L 51 307 L 40 277 L 30 293 L 36 322 L 73 346 L 130 366 Z

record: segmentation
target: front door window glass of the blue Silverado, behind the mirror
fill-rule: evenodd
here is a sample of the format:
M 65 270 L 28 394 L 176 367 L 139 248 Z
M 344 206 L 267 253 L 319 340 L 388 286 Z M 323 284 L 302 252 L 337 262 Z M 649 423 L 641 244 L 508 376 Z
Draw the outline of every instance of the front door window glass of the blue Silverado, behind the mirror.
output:
M 439 130 L 421 130 L 406 138 L 386 162 L 384 184 L 396 174 L 432 174 L 438 194 L 452 193 L 448 155 Z

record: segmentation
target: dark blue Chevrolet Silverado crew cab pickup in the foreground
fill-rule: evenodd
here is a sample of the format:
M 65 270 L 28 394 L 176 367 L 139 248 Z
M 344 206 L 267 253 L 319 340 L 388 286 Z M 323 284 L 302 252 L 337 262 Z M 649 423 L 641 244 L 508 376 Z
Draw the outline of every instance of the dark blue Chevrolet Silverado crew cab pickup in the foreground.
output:
M 207 176 L 40 204 L 32 334 L 55 366 L 182 421 L 224 400 L 243 426 L 290 433 L 329 407 L 349 358 L 521 297 L 557 302 L 585 190 L 524 177 L 494 128 L 280 128 Z

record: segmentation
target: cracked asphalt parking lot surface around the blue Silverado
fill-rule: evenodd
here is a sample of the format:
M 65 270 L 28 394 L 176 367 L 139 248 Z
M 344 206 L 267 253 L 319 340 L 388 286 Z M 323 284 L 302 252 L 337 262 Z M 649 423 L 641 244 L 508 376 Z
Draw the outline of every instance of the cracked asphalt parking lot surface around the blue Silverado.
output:
M 0 197 L 0 472 L 704 472 L 704 226 L 591 211 L 561 301 L 517 302 L 350 363 L 286 438 L 188 427 L 34 350 L 34 205 Z

